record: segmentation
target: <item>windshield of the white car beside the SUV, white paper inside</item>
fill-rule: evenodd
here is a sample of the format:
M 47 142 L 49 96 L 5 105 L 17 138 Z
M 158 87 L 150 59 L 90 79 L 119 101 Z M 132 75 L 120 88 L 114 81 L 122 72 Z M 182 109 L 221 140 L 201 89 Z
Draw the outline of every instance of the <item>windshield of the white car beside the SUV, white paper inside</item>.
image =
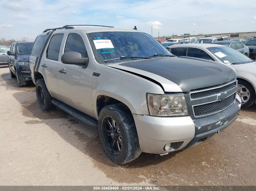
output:
M 217 47 L 209 47 L 206 49 L 208 49 L 211 53 L 213 53 L 223 63 L 241 63 L 242 64 L 242 63 L 252 62 L 252 60 L 247 56 L 244 56 L 243 54 L 229 47 L 217 46 Z

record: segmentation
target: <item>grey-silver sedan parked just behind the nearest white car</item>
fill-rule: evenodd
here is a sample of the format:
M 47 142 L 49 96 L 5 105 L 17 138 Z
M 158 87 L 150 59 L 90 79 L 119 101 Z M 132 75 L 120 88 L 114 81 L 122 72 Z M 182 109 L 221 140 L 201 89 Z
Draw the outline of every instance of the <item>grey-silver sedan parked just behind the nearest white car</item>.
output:
M 248 46 L 246 46 L 244 43 L 241 42 L 235 42 L 234 40 L 224 40 L 224 41 L 218 41 L 213 44 L 220 44 L 224 46 L 228 46 L 232 49 L 237 50 L 238 52 L 244 54 L 245 56 L 249 57 L 250 51 Z

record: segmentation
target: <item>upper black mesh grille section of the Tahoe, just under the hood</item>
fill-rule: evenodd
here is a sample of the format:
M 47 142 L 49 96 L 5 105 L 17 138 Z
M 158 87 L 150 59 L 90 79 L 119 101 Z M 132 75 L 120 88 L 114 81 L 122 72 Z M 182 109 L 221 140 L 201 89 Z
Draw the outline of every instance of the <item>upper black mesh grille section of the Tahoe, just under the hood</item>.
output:
M 214 94 L 219 94 L 221 92 L 228 91 L 228 90 L 230 90 L 234 87 L 236 87 L 236 82 L 235 81 L 231 84 L 227 84 L 227 85 L 222 86 L 220 88 L 191 93 L 190 98 L 191 99 L 198 99 L 198 98 L 201 98 L 201 97 L 206 97 L 206 96 L 210 96 L 210 95 L 214 95 Z

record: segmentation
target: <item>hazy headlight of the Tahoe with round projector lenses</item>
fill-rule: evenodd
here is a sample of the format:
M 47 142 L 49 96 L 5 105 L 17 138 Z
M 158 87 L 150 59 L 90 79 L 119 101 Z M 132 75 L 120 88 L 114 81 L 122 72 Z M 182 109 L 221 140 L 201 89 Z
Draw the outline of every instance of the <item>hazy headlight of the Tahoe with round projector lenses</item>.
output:
M 184 94 L 147 93 L 149 114 L 152 116 L 186 116 L 188 108 Z

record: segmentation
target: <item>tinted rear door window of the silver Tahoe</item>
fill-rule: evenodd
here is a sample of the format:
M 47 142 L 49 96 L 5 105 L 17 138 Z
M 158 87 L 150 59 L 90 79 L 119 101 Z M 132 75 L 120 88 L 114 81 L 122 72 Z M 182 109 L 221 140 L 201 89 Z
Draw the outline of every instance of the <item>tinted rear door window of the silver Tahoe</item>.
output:
M 46 52 L 46 58 L 52 59 L 52 60 L 58 60 L 63 36 L 64 34 L 55 34 L 52 36 L 52 39 L 49 43 L 49 46 Z

